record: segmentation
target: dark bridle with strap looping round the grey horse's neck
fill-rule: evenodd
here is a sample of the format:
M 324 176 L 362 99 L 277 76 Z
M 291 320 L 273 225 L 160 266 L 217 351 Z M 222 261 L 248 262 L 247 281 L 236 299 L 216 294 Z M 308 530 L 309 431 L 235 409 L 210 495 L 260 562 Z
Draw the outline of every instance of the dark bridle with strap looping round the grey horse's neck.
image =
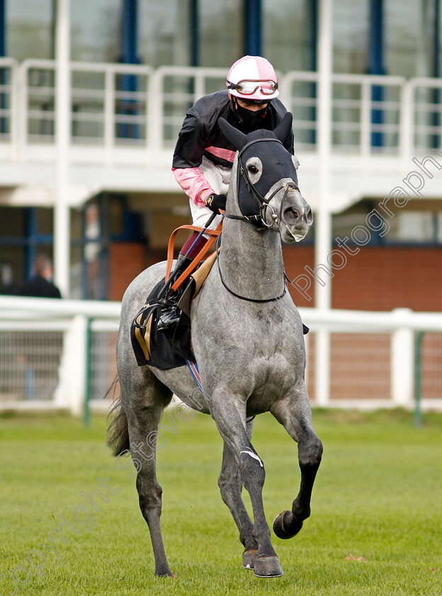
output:
M 281 221 L 283 221 L 283 223 L 285 223 L 285 225 L 287 226 L 287 223 L 283 219 L 283 205 L 284 205 L 285 199 L 287 198 L 290 190 L 298 190 L 299 191 L 299 187 L 297 186 L 297 184 L 295 184 L 295 182 L 293 182 L 293 184 L 290 184 L 290 183 L 281 184 L 276 190 L 274 190 L 272 192 L 270 197 L 268 197 L 268 199 L 266 199 L 265 197 L 262 196 L 262 194 L 259 192 L 259 190 L 254 187 L 254 184 L 252 184 L 249 174 L 246 170 L 246 167 L 244 167 L 244 163 L 242 161 L 243 153 L 247 148 L 250 147 L 250 145 L 254 145 L 254 143 L 261 143 L 261 142 L 268 143 L 268 141 L 273 141 L 273 143 L 280 143 L 280 145 L 283 145 L 283 143 L 281 143 L 281 141 L 276 138 L 257 138 L 257 139 L 251 140 L 249 143 L 246 143 L 246 145 L 244 145 L 244 147 L 238 153 L 238 166 L 237 167 L 238 167 L 239 173 L 240 173 L 242 179 L 244 180 L 246 187 L 249 190 L 251 196 L 254 197 L 256 203 L 259 206 L 259 214 L 249 215 L 249 216 L 244 215 L 244 214 L 234 215 L 234 214 L 229 214 L 227 212 L 224 214 L 224 217 L 226 217 L 227 219 L 237 219 L 240 221 L 246 221 L 246 223 L 249 223 L 256 231 L 262 231 L 263 229 L 266 229 L 266 228 L 273 228 L 273 226 L 276 223 L 279 225 L 279 223 Z M 237 176 L 237 197 L 239 197 L 239 182 L 240 181 L 241 181 L 241 178 L 239 176 Z M 270 202 L 271 202 L 271 199 L 273 199 L 273 197 L 283 188 L 285 188 L 285 193 L 284 193 L 283 199 L 280 204 L 279 214 L 276 214 L 276 212 L 273 209 L 273 207 L 271 206 Z M 239 206 L 239 204 L 238 204 L 238 206 Z M 272 211 L 271 219 L 273 221 L 270 224 L 266 223 L 267 209 L 271 209 L 271 211 Z M 240 206 L 239 206 L 239 210 L 241 211 Z M 219 259 L 220 238 L 221 238 L 221 236 L 217 237 L 217 251 L 216 251 L 218 273 L 220 274 L 220 280 L 221 280 L 222 285 L 225 287 L 225 289 L 227 289 L 227 291 L 230 294 L 232 294 L 234 297 L 237 297 L 241 300 L 246 300 L 247 302 L 261 302 L 261 303 L 262 302 L 274 302 L 275 300 L 281 299 L 285 295 L 285 293 L 287 292 L 287 276 L 285 275 L 285 272 L 284 272 L 284 289 L 283 289 L 283 292 L 281 294 L 279 294 L 279 296 L 276 296 L 273 298 L 258 299 L 258 298 L 249 298 L 246 296 L 242 296 L 241 294 L 237 294 L 236 292 L 233 292 L 233 290 L 230 289 L 227 286 L 227 284 L 225 283 L 225 281 L 222 279 L 220 259 Z

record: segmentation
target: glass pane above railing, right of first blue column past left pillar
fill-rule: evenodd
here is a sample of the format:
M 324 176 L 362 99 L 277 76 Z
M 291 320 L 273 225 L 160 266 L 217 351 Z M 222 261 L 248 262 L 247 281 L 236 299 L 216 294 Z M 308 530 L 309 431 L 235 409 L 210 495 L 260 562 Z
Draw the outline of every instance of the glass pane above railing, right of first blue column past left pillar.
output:
M 186 66 L 190 62 L 188 0 L 140 0 L 138 34 L 143 64 Z

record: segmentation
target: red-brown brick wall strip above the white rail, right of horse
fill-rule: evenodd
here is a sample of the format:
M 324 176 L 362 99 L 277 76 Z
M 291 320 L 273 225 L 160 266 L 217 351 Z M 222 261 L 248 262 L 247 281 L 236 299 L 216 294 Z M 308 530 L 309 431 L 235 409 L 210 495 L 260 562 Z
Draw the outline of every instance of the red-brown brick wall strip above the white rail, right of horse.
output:
M 313 268 L 312 246 L 285 247 L 285 270 L 290 280 Z M 346 265 L 333 270 L 331 306 L 336 309 L 390 311 L 407 307 L 414 311 L 442 311 L 442 248 L 365 246 L 357 255 L 346 255 Z M 325 282 L 327 272 L 319 272 Z M 312 280 L 307 294 L 291 287 L 298 307 L 314 306 Z

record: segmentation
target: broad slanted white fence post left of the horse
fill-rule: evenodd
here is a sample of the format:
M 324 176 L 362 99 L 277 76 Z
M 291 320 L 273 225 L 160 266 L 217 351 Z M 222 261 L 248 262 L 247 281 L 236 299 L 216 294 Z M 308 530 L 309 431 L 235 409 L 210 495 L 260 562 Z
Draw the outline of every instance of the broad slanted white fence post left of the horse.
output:
M 83 414 L 86 398 L 87 323 L 86 316 L 77 314 L 64 333 L 60 382 L 55 390 L 55 404 L 68 407 L 74 416 Z

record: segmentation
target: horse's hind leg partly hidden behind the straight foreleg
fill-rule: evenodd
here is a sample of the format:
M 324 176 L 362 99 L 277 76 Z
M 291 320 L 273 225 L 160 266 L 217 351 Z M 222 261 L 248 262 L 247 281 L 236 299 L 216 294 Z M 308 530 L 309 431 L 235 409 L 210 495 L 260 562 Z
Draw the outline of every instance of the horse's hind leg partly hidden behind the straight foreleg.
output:
M 253 430 L 253 420 L 246 424 L 246 431 L 249 440 Z M 242 482 L 239 475 L 237 460 L 227 443 L 224 444 L 222 452 L 222 468 L 218 485 L 221 491 L 222 500 L 229 507 L 230 513 L 239 529 L 239 540 L 244 545 L 242 555 L 242 566 L 247 569 L 253 569 L 256 555 L 258 554 L 258 544 L 253 535 L 254 526 L 251 522 L 247 509 L 241 497 Z

